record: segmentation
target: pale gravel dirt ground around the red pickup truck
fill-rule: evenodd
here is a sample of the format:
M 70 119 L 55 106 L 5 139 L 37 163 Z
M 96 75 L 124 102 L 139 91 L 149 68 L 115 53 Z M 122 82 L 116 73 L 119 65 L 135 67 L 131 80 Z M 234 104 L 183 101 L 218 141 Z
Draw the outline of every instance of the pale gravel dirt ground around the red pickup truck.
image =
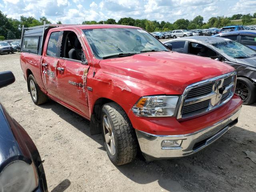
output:
M 186 158 L 116 167 L 102 136 L 90 135 L 89 121 L 57 104 L 32 102 L 19 54 L 0 55 L 0 71 L 16 82 L 0 90 L 0 101 L 34 140 L 49 191 L 256 191 L 256 164 L 244 150 L 256 152 L 256 105 L 243 106 L 236 127 L 208 148 Z

